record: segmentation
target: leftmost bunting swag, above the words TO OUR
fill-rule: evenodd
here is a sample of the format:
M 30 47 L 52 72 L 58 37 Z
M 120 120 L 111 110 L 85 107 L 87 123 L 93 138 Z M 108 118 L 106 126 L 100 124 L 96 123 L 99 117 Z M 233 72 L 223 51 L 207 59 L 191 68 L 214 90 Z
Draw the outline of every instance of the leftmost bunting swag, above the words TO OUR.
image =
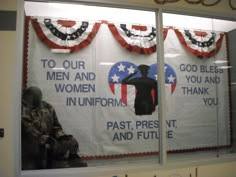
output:
M 100 27 L 100 23 L 49 18 L 33 18 L 32 25 L 48 47 L 67 52 L 79 51 L 88 46 Z

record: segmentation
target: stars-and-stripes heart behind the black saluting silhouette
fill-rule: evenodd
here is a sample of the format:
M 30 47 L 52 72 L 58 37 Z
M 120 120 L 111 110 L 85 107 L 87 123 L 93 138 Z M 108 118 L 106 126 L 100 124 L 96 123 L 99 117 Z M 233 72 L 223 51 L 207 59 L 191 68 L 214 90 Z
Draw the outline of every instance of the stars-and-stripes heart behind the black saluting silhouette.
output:
M 135 86 L 123 84 L 122 80 L 134 72 L 137 73 L 132 77 L 132 79 L 141 76 L 136 64 L 128 61 L 120 61 L 111 67 L 108 74 L 108 82 L 112 93 L 116 95 L 118 99 L 121 99 L 125 105 L 130 107 L 133 107 L 134 105 L 136 94 Z M 150 65 L 148 77 L 158 80 L 157 64 Z M 173 94 L 175 90 L 176 83 L 177 77 L 175 71 L 170 65 L 165 64 L 165 84 L 168 88 L 170 88 L 168 90 L 170 90 L 171 94 Z

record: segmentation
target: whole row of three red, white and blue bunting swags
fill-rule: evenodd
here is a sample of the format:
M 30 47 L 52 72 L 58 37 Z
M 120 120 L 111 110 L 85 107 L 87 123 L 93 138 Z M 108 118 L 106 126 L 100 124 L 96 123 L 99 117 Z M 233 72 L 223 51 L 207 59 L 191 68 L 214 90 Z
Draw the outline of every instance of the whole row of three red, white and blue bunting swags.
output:
M 79 51 L 88 46 L 101 25 L 100 22 L 49 18 L 32 18 L 31 21 L 37 36 L 52 51 L 67 53 Z M 156 52 L 155 27 L 108 22 L 107 25 L 115 39 L 128 51 L 146 55 Z M 216 55 L 224 38 L 224 33 L 168 27 L 163 29 L 164 40 L 168 30 L 174 30 L 187 51 L 199 58 Z

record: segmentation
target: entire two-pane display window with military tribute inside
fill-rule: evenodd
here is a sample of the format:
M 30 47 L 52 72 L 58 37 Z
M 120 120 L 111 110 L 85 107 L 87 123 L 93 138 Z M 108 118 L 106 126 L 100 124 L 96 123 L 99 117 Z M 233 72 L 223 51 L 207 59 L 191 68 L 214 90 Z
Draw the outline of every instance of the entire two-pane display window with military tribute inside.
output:
M 234 153 L 236 23 L 156 13 L 25 2 L 22 170 Z

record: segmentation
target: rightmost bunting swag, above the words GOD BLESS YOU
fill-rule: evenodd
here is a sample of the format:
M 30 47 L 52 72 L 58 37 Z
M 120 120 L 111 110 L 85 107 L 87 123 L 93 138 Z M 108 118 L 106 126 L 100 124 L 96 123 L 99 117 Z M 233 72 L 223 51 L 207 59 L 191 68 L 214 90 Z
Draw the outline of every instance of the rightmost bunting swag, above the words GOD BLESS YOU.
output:
M 174 29 L 181 44 L 199 58 L 209 58 L 219 51 L 224 33 Z

